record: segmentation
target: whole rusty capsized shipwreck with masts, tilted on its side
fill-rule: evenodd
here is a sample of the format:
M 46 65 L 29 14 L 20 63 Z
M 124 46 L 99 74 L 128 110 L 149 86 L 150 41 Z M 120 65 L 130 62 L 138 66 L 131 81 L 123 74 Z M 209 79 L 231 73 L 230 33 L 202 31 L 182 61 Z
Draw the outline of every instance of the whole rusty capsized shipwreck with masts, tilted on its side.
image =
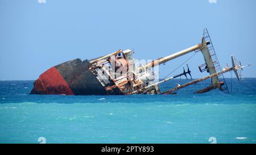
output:
M 173 77 L 156 81 L 154 68 L 177 57 L 188 53 L 200 52 L 204 57 L 204 64 L 199 66 L 200 72 L 208 72 L 209 76 L 193 80 L 191 71 L 187 65 L 187 71 Z M 208 30 L 205 29 L 199 44 L 176 52 L 170 56 L 161 57 L 148 64 L 138 66 L 133 57 L 134 51 L 122 49 L 109 55 L 82 61 L 80 58 L 53 66 L 34 82 L 30 94 L 62 94 L 62 95 L 131 95 L 131 94 L 176 94 L 176 91 L 194 83 L 210 78 L 208 87 L 195 93 L 206 93 L 213 89 L 219 89 L 229 93 L 224 73 L 234 71 L 241 81 L 242 66 L 232 56 L 232 67 L 221 68 L 220 63 Z M 162 92 L 159 84 L 171 79 L 185 76 L 191 77 L 191 82 L 177 85 Z

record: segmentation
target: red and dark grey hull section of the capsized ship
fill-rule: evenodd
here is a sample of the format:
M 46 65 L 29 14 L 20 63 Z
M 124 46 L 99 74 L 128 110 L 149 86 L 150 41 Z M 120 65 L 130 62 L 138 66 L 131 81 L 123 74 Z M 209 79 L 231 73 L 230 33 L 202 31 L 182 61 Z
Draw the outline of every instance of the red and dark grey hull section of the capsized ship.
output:
M 89 70 L 90 65 L 88 60 L 81 61 L 77 58 L 53 66 L 34 82 L 30 94 L 113 95 L 105 90 Z

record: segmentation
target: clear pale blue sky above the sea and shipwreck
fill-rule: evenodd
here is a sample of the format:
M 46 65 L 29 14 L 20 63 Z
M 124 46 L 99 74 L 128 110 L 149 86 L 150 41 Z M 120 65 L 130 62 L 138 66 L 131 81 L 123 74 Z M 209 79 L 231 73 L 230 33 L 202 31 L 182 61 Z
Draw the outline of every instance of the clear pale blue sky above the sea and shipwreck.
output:
M 222 66 L 235 55 L 242 64 L 254 64 L 243 77 L 256 77 L 255 0 L 3 0 L 0 19 L 1 80 L 36 79 L 61 62 L 118 49 L 134 49 L 138 59 L 167 56 L 200 43 L 205 27 Z M 189 56 L 162 65 L 160 76 Z M 193 77 L 206 75 L 197 68 L 203 62 L 201 53 L 188 62 Z

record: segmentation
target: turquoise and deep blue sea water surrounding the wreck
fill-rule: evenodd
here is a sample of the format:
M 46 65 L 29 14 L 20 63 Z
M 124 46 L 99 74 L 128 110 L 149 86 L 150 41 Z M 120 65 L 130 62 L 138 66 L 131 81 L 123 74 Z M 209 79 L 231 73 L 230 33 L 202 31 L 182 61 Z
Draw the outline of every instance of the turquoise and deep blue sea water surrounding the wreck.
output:
M 34 81 L 0 81 L 0 143 L 256 143 L 256 78 L 232 94 L 28 95 Z M 175 79 L 162 90 L 187 82 Z

